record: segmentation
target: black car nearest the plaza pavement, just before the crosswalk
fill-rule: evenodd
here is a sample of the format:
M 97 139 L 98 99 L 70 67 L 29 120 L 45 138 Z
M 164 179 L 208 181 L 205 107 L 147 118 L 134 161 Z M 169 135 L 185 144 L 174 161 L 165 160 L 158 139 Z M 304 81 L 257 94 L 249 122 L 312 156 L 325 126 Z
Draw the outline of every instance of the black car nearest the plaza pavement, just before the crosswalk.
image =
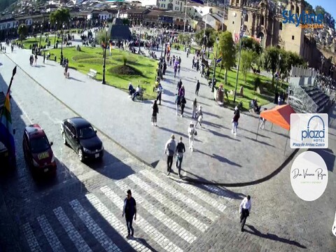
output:
M 84 118 L 76 117 L 61 123 L 63 144 L 69 144 L 76 151 L 81 162 L 103 158 L 104 146 L 97 136 L 97 130 Z

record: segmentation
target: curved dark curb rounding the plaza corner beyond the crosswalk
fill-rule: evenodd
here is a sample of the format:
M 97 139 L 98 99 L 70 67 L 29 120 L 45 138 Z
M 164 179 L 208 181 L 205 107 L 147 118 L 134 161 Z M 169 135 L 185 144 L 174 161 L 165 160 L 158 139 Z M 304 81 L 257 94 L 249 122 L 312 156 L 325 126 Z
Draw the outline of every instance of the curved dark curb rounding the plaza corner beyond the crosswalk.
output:
M 274 170 L 274 172 L 272 172 L 271 174 L 263 177 L 262 179 L 257 179 L 255 181 L 248 181 L 248 182 L 239 182 L 239 183 L 217 183 L 217 182 L 210 182 L 210 181 L 200 181 L 198 179 L 191 179 L 188 178 L 186 176 L 182 176 L 181 179 L 183 181 L 189 182 L 189 183 L 195 183 L 195 184 L 200 184 L 200 185 L 211 185 L 211 186 L 225 186 L 225 187 L 231 187 L 231 188 L 235 188 L 235 187 L 244 187 L 244 186 L 253 186 L 256 185 L 258 183 L 262 183 L 265 182 L 269 179 L 272 179 L 274 176 L 276 176 L 276 174 L 279 174 L 279 172 L 281 172 L 281 170 L 286 167 L 286 165 L 288 165 L 288 163 L 293 160 L 294 156 L 296 155 L 296 153 L 299 151 L 300 149 L 295 149 L 295 151 L 293 151 L 293 153 L 291 153 L 288 158 L 286 158 L 286 160 L 283 161 L 283 163 Z

